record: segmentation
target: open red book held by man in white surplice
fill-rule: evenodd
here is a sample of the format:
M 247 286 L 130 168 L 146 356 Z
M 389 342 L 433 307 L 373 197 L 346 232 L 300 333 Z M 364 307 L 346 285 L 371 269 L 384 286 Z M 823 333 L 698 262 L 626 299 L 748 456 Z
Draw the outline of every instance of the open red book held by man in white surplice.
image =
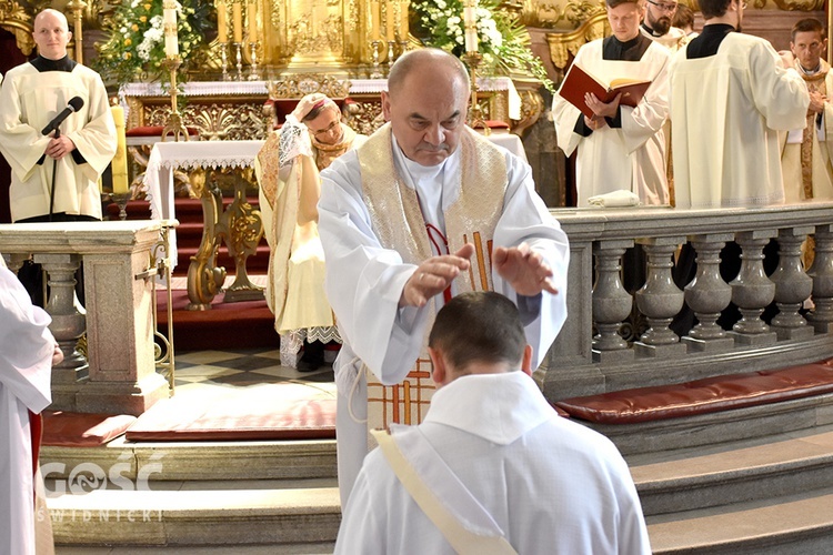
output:
M 605 104 L 612 102 L 616 94 L 622 93 L 622 98 L 619 99 L 620 105 L 636 108 L 649 87 L 651 87 L 651 81 L 638 79 L 620 78 L 604 81 L 573 63 L 564 75 L 559 94 L 581 110 L 581 113 L 593 118 L 593 110 L 584 102 L 584 94 L 588 92 L 595 94 Z

